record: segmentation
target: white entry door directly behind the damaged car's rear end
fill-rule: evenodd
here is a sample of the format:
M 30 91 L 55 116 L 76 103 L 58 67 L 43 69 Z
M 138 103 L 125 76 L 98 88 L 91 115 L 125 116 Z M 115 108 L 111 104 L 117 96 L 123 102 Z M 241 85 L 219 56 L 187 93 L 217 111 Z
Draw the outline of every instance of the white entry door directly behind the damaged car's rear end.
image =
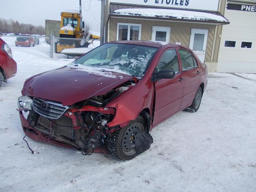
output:
M 191 29 L 189 48 L 193 50 L 202 63 L 204 63 L 205 58 L 207 37 L 207 29 Z

